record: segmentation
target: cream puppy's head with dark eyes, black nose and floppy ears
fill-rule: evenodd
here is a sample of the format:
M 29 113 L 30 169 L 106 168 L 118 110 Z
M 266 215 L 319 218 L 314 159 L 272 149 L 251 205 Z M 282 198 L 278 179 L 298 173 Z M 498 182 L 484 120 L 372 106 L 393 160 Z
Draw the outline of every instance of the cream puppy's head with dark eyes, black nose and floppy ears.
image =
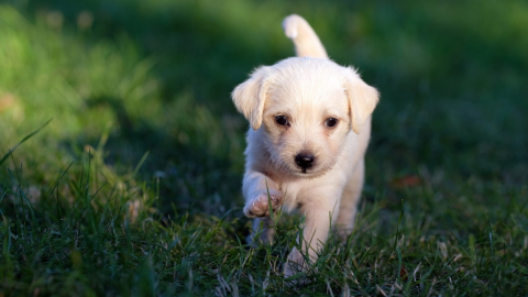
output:
M 257 68 L 232 97 L 251 127 L 265 132 L 271 164 L 302 177 L 332 168 L 346 135 L 360 133 L 378 101 L 354 69 L 308 57 Z

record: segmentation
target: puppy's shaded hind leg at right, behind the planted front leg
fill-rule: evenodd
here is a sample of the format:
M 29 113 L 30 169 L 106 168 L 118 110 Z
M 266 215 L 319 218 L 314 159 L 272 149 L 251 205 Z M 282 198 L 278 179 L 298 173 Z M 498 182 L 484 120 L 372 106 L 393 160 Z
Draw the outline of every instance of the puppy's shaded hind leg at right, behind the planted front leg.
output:
M 341 197 L 338 220 L 336 227 L 339 235 L 345 238 L 352 233 L 358 213 L 358 201 L 361 198 L 365 175 L 365 162 L 361 160 L 354 168 L 350 180 L 346 183 Z

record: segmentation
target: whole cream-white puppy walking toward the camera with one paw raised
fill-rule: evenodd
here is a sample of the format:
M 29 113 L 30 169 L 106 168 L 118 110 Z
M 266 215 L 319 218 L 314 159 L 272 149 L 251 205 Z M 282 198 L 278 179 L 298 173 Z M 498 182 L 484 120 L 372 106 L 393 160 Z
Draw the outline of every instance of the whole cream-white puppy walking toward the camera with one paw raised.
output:
M 298 241 L 308 255 L 290 252 L 290 276 L 317 258 L 330 226 L 342 235 L 352 231 L 378 92 L 355 69 L 330 61 L 301 16 L 287 16 L 283 28 L 298 57 L 256 68 L 232 99 L 251 124 L 242 188 L 253 234 L 272 240 L 270 209 L 306 216 Z

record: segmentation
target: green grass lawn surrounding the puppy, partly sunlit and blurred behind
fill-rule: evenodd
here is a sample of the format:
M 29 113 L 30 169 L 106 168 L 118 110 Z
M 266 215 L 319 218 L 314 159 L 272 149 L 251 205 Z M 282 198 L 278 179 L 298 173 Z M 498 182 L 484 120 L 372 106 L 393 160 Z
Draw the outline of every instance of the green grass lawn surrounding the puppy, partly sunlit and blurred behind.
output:
M 293 12 L 382 101 L 354 233 L 285 280 L 302 218 L 245 243 L 248 124 L 229 92 L 293 54 Z M 527 13 L 0 1 L 0 296 L 527 295 Z

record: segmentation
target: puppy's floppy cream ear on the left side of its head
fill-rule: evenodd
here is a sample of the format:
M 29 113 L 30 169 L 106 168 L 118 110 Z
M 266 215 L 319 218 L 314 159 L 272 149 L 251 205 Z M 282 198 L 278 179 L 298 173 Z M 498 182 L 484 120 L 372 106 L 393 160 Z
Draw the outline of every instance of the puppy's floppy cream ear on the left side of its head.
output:
M 257 130 L 262 124 L 262 113 L 264 112 L 268 85 L 266 78 L 270 76 L 270 68 L 266 66 L 256 68 L 251 74 L 250 79 L 237 86 L 231 94 L 237 110 L 244 114 L 253 130 Z

